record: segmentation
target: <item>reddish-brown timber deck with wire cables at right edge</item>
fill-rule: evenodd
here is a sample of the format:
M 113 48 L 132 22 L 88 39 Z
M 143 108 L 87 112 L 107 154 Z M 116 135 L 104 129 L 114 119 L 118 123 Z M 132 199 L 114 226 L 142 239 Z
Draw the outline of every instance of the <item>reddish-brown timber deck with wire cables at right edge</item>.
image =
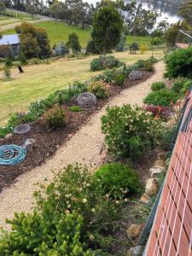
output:
M 145 256 L 192 255 L 192 92 L 187 102 Z

